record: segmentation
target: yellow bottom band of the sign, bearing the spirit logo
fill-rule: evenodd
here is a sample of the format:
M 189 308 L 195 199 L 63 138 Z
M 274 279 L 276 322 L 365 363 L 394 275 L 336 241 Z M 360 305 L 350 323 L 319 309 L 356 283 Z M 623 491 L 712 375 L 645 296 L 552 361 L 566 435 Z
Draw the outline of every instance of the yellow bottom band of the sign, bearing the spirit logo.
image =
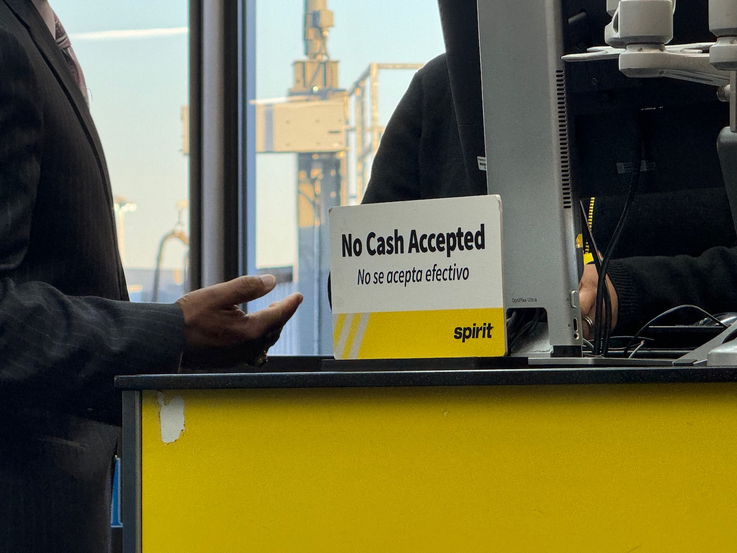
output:
M 506 351 L 501 307 L 341 313 L 333 325 L 336 359 L 495 357 Z

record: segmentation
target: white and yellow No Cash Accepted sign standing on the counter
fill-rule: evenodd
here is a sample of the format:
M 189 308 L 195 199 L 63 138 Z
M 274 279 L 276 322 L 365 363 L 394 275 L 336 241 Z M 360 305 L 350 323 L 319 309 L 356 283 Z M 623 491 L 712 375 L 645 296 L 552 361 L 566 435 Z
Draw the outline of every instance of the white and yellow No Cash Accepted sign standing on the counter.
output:
M 330 211 L 335 358 L 503 355 L 497 195 Z

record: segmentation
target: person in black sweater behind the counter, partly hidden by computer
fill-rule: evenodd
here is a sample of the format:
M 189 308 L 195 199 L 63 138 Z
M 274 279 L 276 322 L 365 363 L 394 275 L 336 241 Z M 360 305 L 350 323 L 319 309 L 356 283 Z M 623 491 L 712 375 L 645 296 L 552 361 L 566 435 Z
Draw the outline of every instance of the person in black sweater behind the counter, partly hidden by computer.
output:
M 452 49 L 413 77 L 388 122 L 362 203 L 487 193 L 486 173 L 476 161 L 485 155 L 481 111 L 475 109 L 476 119 L 458 116 L 448 56 Z M 623 204 L 621 196 L 595 200 L 593 234 L 601 249 Z M 642 189 L 607 271 L 616 333 L 632 334 L 677 305 L 737 310 L 735 241 L 722 183 L 675 192 Z M 593 319 L 594 265 L 584 269 L 580 288 L 581 312 Z M 690 321 L 700 318 L 691 313 Z

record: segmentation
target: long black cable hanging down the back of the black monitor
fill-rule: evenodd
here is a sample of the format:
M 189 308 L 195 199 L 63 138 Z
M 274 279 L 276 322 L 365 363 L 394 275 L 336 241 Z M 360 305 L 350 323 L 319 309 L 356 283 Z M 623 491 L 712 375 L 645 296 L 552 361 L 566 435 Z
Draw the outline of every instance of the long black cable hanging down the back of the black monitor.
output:
M 612 259 L 615 248 L 619 241 L 619 237 L 624 229 L 624 223 L 626 223 L 629 217 L 629 212 L 632 209 L 632 202 L 635 199 L 635 192 L 637 192 L 638 184 L 640 183 L 640 164 L 643 159 L 643 139 L 642 139 L 642 111 L 638 114 L 636 125 L 635 125 L 635 161 L 632 164 L 632 175 L 629 178 L 629 187 L 627 189 L 627 196 L 624 202 L 624 208 L 622 214 L 617 222 L 612 238 L 609 240 L 609 246 L 607 251 L 604 253 L 604 259 L 601 260 L 601 269 L 598 271 L 598 283 L 596 286 L 596 307 L 595 307 L 595 323 L 594 323 L 594 352 L 597 355 L 607 355 L 607 349 L 609 348 L 609 335 L 612 330 L 612 314 L 607 313 L 604 317 L 604 288 L 607 288 L 607 268 L 609 267 L 609 260 Z M 605 322 L 604 322 L 605 321 Z

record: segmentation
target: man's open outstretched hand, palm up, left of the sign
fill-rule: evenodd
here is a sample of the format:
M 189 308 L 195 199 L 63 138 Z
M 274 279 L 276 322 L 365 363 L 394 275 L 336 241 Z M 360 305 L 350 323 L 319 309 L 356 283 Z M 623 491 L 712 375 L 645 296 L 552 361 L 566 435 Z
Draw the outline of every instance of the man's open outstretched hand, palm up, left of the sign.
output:
M 238 277 L 201 288 L 177 300 L 184 315 L 182 366 L 216 368 L 263 364 L 269 347 L 302 302 L 293 293 L 266 309 L 245 313 L 239 305 L 265 296 L 276 286 L 272 275 Z

